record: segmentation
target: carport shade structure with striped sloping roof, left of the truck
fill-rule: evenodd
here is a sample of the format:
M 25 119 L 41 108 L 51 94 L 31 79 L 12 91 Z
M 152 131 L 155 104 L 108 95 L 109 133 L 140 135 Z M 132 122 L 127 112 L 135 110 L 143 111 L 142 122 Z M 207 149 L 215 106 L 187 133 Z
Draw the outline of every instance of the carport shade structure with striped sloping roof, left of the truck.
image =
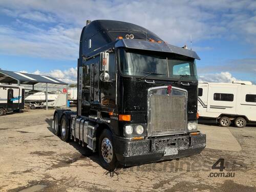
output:
M 13 71 L 0 70 L 0 82 L 8 84 L 34 84 L 46 83 L 46 109 L 48 110 L 48 83 L 68 86 L 68 83 L 45 75 L 34 75 Z M 67 97 L 68 100 L 68 97 Z

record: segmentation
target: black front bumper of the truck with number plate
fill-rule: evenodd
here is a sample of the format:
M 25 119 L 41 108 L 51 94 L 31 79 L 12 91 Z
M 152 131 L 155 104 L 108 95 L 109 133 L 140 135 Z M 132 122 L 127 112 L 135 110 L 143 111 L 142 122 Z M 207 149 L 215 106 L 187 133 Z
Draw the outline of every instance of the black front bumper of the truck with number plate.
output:
M 115 136 L 114 144 L 119 163 L 130 166 L 198 154 L 206 146 L 206 135 L 179 135 L 143 140 L 127 140 Z

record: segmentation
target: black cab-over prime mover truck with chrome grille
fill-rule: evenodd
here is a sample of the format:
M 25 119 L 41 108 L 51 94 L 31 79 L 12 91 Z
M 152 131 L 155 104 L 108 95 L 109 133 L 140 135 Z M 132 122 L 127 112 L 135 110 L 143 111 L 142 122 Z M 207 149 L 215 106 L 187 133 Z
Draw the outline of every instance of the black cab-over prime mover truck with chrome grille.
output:
M 87 21 L 80 37 L 77 111 L 56 110 L 53 132 L 98 152 L 102 167 L 200 153 L 194 51 L 140 26 Z

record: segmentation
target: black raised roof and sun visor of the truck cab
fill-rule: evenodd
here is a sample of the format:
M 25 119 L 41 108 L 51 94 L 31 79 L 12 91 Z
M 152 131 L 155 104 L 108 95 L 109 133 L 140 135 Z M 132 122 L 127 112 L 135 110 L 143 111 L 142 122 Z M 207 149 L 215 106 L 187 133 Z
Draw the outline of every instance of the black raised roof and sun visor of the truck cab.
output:
M 125 38 L 125 35 L 131 34 L 134 35 L 133 39 Z M 155 33 L 135 24 L 117 20 L 94 20 L 83 28 L 80 38 L 80 58 L 90 57 L 111 47 L 175 53 L 200 59 L 196 52 L 169 45 Z

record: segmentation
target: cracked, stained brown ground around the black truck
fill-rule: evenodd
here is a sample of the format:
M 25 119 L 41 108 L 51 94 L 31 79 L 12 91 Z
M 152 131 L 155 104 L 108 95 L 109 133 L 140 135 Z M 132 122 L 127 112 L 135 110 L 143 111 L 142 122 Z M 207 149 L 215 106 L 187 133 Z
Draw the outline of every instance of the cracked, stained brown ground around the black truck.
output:
M 109 173 L 97 154 L 51 132 L 53 112 L 0 117 L 0 191 L 256 191 L 255 126 L 200 124 L 201 154 Z M 211 168 L 218 159 L 223 172 Z

